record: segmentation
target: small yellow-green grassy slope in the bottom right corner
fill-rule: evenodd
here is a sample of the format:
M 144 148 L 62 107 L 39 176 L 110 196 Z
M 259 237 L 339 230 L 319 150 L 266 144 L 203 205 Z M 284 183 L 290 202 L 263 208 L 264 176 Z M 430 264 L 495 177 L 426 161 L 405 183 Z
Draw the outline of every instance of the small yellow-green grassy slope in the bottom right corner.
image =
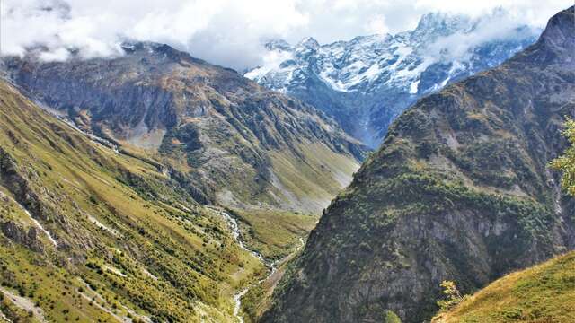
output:
M 433 322 L 575 322 L 575 252 L 506 275 Z

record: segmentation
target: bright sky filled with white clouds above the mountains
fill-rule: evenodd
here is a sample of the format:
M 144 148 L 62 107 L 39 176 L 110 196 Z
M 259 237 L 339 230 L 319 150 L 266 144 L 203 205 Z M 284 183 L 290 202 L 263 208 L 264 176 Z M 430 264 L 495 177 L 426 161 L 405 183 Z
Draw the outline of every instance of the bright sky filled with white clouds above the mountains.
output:
M 0 54 L 41 59 L 113 57 L 125 40 L 169 44 L 208 62 L 259 65 L 263 43 L 311 36 L 320 43 L 413 29 L 424 13 L 478 17 L 503 9 L 506 23 L 544 28 L 573 0 L 0 0 Z M 497 37 L 497 32 L 491 32 Z

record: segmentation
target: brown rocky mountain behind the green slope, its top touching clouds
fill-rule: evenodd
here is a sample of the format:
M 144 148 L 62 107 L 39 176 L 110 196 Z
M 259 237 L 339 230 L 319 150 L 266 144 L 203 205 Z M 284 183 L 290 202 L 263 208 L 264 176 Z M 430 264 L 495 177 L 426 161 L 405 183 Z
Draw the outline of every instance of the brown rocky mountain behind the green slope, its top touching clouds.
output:
M 4 64 L 31 97 L 164 164 L 201 203 L 318 213 L 358 168 L 364 148 L 310 106 L 166 45 L 123 48 Z

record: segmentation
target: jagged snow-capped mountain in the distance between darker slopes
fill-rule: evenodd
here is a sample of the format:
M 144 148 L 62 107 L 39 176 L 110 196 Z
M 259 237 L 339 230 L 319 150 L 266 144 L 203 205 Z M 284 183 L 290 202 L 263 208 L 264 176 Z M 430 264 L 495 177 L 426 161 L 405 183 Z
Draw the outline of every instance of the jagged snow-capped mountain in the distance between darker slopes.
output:
M 245 76 L 313 104 L 375 147 L 415 100 L 499 65 L 539 33 L 510 21 L 505 12 L 481 19 L 429 13 L 413 31 L 395 35 L 326 45 L 313 38 L 295 46 L 272 40 L 264 63 Z

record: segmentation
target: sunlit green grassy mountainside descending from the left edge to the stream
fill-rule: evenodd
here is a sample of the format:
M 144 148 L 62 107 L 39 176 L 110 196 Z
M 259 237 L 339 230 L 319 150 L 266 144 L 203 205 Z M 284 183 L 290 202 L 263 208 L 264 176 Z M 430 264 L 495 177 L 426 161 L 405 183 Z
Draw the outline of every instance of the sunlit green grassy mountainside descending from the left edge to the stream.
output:
M 234 290 L 264 271 L 156 164 L 89 140 L 0 80 L 5 317 L 231 322 Z

